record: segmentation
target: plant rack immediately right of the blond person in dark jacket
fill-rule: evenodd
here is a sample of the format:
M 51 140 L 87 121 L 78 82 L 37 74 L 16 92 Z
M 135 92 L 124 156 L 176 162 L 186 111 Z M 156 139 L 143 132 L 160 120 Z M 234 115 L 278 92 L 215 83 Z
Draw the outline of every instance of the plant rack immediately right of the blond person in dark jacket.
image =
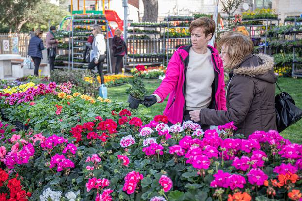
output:
M 133 50 L 135 48 L 135 43 L 136 42 L 151 42 L 151 43 L 155 43 L 156 41 L 160 40 L 160 34 L 162 32 L 162 24 L 158 23 L 158 24 L 130 24 L 130 27 L 132 27 L 132 33 L 130 33 L 132 35 L 132 46 L 133 46 Z M 154 33 L 144 33 L 139 31 L 138 33 L 136 32 L 135 28 L 149 28 L 149 29 L 153 29 Z M 158 32 L 156 29 L 159 28 Z M 140 38 L 135 38 L 136 35 L 153 35 L 154 39 L 140 39 Z M 130 39 L 130 38 L 129 38 Z M 157 49 L 157 48 L 156 48 Z M 155 52 L 155 49 L 153 48 L 152 50 L 153 52 L 150 52 L 148 54 L 140 54 L 139 58 L 135 57 L 135 54 L 130 54 L 125 56 L 125 61 L 126 61 L 126 65 L 127 66 L 132 66 L 132 68 L 135 67 L 136 64 L 163 64 L 164 62 L 164 55 L 163 52 L 161 52 L 162 50 L 159 48 L 159 52 Z M 154 54 L 154 57 L 149 57 L 150 54 Z M 137 54 L 136 54 L 137 55 Z M 157 55 L 157 56 L 156 56 Z M 127 59 L 128 58 L 128 59 Z M 131 65 L 132 64 L 132 65 Z M 126 68 L 127 69 L 127 68 Z

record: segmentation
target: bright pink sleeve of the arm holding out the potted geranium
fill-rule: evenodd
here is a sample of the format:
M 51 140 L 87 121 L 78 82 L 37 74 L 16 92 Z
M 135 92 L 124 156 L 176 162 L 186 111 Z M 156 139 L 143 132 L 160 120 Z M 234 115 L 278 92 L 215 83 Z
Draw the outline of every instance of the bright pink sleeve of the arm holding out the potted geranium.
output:
M 159 87 L 154 91 L 154 93 L 161 98 L 159 103 L 163 102 L 168 94 L 175 89 L 180 76 L 181 63 L 182 62 L 180 61 L 178 52 L 175 51 L 170 59 L 170 62 L 168 63 L 166 77 Z

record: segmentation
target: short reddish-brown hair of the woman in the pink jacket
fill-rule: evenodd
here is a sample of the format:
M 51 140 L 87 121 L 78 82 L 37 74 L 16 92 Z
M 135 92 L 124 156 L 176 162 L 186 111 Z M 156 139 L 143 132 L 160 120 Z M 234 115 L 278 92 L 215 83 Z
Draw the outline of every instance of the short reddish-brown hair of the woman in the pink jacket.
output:
M 209 17 L 200 17 L 191 22 L 189 31 L 190 33 L 194 28 L 202 27 L 204 29 L 204 35 L 207 37 L 209 34 L 212 34 L 212 37 L 215 32 L 215 21 Z M 212 38 L 211 37 L 211 38 Z

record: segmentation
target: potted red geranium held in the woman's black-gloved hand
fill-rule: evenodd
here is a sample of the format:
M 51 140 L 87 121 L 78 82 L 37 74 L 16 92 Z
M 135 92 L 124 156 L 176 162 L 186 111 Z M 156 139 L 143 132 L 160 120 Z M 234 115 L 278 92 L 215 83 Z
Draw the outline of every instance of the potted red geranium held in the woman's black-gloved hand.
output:
M 133 109 L 138 108 L 139 103 L 144 100 L 146 94 L 144 82 L 140 77 L 141 72 L 145 70 L 145 66 L 137 65 L 135 68 L 137 69 L 137 71 L 133 75 L 134 78 L 132 80 L 131 86 L 126 89 L 126 92 L 129 94 L 129 107 Z

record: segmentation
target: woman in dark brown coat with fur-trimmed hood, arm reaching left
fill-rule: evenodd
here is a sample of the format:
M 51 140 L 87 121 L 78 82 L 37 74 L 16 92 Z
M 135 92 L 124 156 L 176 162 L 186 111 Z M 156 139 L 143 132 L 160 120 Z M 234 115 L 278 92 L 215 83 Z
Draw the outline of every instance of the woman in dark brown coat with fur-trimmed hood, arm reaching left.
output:
M 207 125 L 233 121 L 238 128 L 236 133 L 245 136 L 257 130 L 277 130 L 273 58 L 264 54 L 252 55 L 252 40 L 240 32 L 222 35 L 218 45 L 225 68 L 231 70 L 226 88 L 227 110 L 192 111 L 191 119 Z

